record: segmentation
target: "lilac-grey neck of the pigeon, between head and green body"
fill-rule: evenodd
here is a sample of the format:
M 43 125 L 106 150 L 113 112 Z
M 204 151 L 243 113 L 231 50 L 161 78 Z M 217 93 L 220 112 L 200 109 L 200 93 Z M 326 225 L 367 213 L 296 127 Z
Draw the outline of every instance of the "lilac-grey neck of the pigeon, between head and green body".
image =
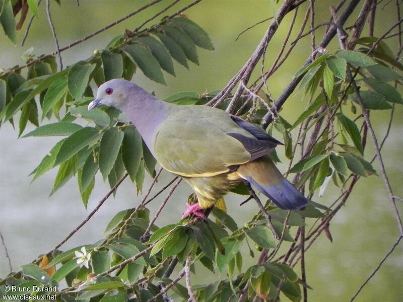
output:
M 139 96 L 135 101 L 127 102 L 122 109 L 136 126 L 149 149 L 152 150 L 156 130 L 165 120 L 172 106 L 172 104 L 148 94 Z

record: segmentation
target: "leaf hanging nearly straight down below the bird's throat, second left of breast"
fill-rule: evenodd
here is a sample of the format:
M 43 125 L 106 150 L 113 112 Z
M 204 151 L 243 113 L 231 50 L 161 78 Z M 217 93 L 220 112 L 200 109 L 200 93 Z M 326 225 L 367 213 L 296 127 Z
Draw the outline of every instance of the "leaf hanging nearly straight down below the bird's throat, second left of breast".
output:
M 104 132 L 99 146 L 99 171 L 106 180 L 112 170 L 123 140 L 123 132 L 112 127 Z

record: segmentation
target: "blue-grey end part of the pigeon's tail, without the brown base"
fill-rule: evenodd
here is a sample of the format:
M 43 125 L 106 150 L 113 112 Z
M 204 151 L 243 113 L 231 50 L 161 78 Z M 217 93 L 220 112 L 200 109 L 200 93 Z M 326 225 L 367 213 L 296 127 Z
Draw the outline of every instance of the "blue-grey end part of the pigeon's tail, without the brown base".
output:
M 279 185 L 262 185 L 251 177 L 245 177 L 249 183 L 255 186 L 266 197 L 270 198 L 283 210 L 298 210 L 308 204 L 305 198 L 287 179 L 280 181 Z

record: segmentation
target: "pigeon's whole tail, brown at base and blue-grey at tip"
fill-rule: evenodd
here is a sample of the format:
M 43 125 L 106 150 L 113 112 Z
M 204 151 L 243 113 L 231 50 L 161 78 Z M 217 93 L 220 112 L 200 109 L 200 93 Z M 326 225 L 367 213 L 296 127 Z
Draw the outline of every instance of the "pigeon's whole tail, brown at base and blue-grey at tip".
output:
M 237 173 L 283 210 L 297 210 L 308 203 L 308 199 L 283 177 L 269 156 L 241 165 Z

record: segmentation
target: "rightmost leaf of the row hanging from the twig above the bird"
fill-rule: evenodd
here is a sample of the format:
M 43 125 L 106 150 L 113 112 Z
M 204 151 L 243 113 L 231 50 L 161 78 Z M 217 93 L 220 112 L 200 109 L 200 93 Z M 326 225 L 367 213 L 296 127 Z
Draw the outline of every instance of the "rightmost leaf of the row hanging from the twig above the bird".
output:
M 198 26 L 193 21 L 187 18 L 177 17 L 171 20 L 171 24 L 174 24 L 182 29 L 197 46 L 208 50 L 214 50 L 214 46 L 209 35 L 204 31 L 203 28 Z

